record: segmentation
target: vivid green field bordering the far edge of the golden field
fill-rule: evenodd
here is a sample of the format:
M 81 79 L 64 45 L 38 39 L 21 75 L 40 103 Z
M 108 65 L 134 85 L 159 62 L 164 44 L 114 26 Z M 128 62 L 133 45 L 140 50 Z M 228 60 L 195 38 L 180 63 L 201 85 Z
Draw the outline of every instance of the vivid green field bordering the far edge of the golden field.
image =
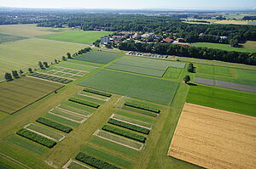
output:
M 191 86 L 187 102 L 256 116 L 256 94 L 210 86 Z

